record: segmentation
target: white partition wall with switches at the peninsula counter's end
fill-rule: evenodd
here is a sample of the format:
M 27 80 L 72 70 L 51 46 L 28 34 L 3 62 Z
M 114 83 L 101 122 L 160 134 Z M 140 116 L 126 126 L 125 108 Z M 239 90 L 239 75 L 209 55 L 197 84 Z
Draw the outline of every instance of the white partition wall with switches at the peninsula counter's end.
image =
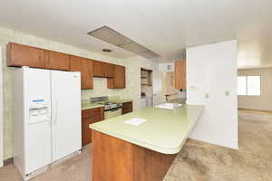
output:
M 187 103 L 205 105 L 190 138 L 238 148 L 237 41 L 189 48 L 186 54 Z

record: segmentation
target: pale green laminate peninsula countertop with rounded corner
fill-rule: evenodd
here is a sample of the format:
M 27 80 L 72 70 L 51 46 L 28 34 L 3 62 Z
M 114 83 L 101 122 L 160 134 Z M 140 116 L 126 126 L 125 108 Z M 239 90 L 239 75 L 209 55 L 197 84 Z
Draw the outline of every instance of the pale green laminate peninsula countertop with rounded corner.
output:
M 204 106 L 195 105 L 183 105 L 174 110 L 148 107 L 93 123 L 89 128 L 163 154 L 176 154 L 203 110 Z M 125 123 L 131 119 L 146 121 L 138 126 Z

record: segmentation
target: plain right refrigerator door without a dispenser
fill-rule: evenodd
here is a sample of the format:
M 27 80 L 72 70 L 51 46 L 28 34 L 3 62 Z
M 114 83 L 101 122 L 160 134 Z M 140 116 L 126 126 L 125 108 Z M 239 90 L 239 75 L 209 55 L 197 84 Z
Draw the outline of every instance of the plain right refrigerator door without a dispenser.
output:
M 51 71 L 53 161 L 82 148 L 80 72 Z

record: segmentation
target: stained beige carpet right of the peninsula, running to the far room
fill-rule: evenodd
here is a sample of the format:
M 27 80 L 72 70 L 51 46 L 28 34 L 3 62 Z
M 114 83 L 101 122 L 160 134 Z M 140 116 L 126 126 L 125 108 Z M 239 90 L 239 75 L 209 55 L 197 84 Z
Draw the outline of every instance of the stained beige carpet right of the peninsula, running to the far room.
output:
M 238 150 L 189 140 L 164 180 L 272 181 L 272 116 L 238 115 Z

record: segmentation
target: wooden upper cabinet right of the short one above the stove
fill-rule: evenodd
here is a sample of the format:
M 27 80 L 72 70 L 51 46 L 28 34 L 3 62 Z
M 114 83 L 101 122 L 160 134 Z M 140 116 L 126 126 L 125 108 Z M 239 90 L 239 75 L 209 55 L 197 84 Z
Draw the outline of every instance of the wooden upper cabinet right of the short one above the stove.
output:
M 123 89 L 126 87 L 126 70 L 124 66 L 114 65 L 114 75 L 108 79 L 109 89 Z

